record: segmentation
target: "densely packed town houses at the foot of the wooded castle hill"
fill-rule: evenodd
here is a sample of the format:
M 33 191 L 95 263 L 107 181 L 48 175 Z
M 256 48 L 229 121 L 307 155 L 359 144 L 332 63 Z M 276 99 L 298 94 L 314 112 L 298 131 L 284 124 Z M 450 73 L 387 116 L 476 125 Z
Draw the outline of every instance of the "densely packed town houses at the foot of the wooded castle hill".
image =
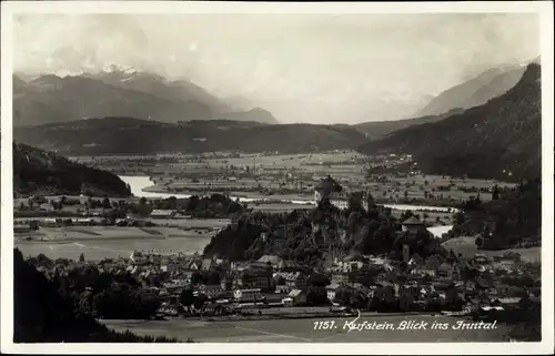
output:
M 323 274 L 330 284 L 325 287 L 330 302 L 337 299 L 342 289 L 360 293 L 366 299 L 377 298 L 398 303 L 401 309 L 423 309 L 430 303 L 446 304 L 453 298 L 463 303 L 463 312 L 480 308 L 512 306 L 519 303 L 523 291 L 482 275 L 523 274 L 517 255 L 488 260 L 476 255 L 468 261 L 452 261 L 440 255 L 422 258 L 413 254 L 407 261 L 408 271 L 401 271 L 397 263 L 386 256 L 359 256 L 335 258 Z M 306 304 L 310 271 L 279 256 L 265 255 L 254 262 L 229 262 L 203 258 L 200 255 L 168 255 L 158 252 L 135 252 L 125 267 L 142 278 L 165 272 L 168 278 L 159 288 L 160 296 L 170 305 L 179 302 L 183 288 L 204 294 L 212 301 L 225 301 L 245 307 L 299 306 Z M 463 269 L 473 269 L 477 277 L 463 278 Z M 193 283 L 198 272 L 219 273 L 220 283 Z M 372 271 L 372 283 L 361 284 L 355 276 Z M 400 277 L 401 276 L 401 277 Z M 525 291 L 527 296 L 539 296 L 539 286 Z

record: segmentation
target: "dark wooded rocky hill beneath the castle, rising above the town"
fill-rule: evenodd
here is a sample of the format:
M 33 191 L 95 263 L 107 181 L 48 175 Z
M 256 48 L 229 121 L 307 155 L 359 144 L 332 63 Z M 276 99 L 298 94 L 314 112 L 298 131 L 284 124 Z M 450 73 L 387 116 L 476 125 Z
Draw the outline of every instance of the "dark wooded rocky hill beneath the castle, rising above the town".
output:
M 203 254 L 231 261 L 258 260 L 271 254 L 313 267 L 330 262 L 334 254 L 389 254 L 398 260 L 403 244 L 421 256 L 445 254 L 440 240 L 426 230 L 417 234 L 401 231 L 400 222 L 408 216 L 411 213 L 401 220 L 387 217 L 375 207 L 366 212 L 355 195 L 351 206 L 343 211 L 324 199 L 312 211 L 243 214 L 212 237 Z

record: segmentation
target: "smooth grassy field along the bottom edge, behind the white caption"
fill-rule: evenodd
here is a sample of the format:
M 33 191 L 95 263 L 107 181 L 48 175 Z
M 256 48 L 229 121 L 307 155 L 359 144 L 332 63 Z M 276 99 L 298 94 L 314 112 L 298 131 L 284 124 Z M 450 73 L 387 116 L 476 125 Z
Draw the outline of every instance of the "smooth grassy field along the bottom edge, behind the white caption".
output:
M 506 333 L 504 325 L 496 329 L 476 330 L 433 330 L 433 322 L 455 325 L 460 318 L 430 315 L 372 315 L 361 316 L 356 323 L 391 323 L 397 327 L 404 321 L 427 322 L 424 330 L 351 330 L 343 329 L 345 322 L 354 317 L 266 319 L 239 322 L 202 321 L 101 321 L 110 328 L 124 332 L 130 329 L 140 335 L 169 336 L 186 340 L 188 337 L 201 343 L 485 343 L 502 342 Z M 314 330 L 315 322 L 334 321 L 327 330 Z

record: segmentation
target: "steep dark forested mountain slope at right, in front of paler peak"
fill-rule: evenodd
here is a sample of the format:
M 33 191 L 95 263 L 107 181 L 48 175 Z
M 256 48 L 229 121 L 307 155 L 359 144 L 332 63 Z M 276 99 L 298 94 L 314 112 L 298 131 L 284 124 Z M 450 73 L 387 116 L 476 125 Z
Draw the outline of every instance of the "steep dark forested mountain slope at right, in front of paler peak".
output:
M 359 148 L 365 154 L 405 152 L 432 174 L 517 181 L 542 165 L 541 67 L 528 64 L 517 84 L 485 104 L 413 125 Z

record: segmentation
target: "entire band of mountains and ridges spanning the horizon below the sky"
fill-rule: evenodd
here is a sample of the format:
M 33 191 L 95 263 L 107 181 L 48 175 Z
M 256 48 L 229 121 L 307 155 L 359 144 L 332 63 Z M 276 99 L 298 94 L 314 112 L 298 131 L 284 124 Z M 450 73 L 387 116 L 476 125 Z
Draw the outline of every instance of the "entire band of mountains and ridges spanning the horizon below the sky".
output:
M 539 167 L 537 62 L 490 69 L 432 99 L 421 116 L 355 125 L 271 124 L 275 119 L 262 109 L 230 111 L 192 83 L 134 71 L 14 77 L 13 134 L 18 142 L 70 155 L 406 152 L 426 172 L 507 180 Z M 82 116 L 75 120 L 74 112 Z M 200 119 L 175 120 L 178 112 Z M 24 125 L 39 118 L 42 124 Z

